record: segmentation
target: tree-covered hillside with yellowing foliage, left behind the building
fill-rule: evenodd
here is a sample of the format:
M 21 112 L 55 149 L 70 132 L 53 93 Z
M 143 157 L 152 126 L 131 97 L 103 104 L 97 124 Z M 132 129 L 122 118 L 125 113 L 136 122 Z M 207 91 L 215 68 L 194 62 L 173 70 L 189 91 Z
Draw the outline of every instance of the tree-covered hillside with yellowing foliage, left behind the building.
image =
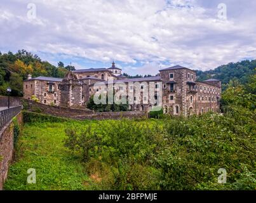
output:
M 23 81 L 27 79 L 28 74 L 32 74 L 32 77 L 64 77 L 70 66 L 64 67 L 62 62 L 58 64 L 59 66 L 55 67 L 25 50 L 19 50 L 17 53 L 0 52 L 0 95 L 6 95 L 6 88 L 10 86 L 11 96 L 22 96 Z

